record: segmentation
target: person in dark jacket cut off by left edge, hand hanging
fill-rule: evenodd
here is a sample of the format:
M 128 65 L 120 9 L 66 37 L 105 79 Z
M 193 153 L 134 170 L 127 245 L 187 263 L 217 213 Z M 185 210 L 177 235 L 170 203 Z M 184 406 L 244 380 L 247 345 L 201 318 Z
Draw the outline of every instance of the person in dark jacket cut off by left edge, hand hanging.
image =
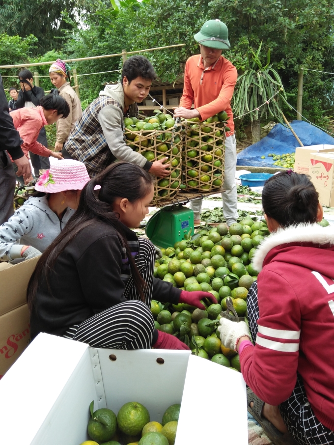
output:
M 15 172 L 8 153 L 18 167 L 19 176 L 28 178 L 31 174 L 29 161 L 21 148 L 22 143 L 23 140 L 15 130 L 13 119 L 9 115 L 0 76 L 0 224 L 8 221 L 14 213 Z

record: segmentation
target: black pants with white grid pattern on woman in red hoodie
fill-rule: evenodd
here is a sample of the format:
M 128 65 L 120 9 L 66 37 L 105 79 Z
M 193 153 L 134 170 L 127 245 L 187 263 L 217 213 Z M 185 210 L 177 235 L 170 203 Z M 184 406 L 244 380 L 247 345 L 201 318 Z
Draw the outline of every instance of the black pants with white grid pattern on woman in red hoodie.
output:
M 247 295 L 247 314 L 251 338 L 255 342 L 258 330 L 257 320 L 260 316 L 256 281 L 251 285 Z M 306 396 L 303 380 L 299 374 L 297 374 L 297 382 L 292 394 L 278 408 L 289 433 L 298 444 L 334 444 L 334 431 L 326 428 L 315 417 Z

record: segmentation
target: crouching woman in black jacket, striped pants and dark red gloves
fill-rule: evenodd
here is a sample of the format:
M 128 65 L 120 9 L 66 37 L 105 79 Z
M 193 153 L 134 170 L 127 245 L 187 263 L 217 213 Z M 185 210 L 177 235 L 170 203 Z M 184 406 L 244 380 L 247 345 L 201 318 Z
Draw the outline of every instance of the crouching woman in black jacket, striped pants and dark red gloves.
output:
M 217 301 L 153 277 L 154 246 L 130 230 L 148 213 L 153 195 L 152 176 L 126 162 L 111 164 L 84 186 L 76 213 L 30 279 L 31 338 L 46 332 L 100 348 L 189 349 L 154 329 L 152 297 L 201 309 L 202 298 Z

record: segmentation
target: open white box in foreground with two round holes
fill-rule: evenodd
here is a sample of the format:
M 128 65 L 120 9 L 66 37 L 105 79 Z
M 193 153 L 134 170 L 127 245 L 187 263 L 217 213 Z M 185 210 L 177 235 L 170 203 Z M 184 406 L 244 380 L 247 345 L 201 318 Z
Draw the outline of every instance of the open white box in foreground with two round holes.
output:
M 138 401 L 159 422 L 181 403 L 175 445 L 247 445 L 246 399 L 240 373 L 188 351 L 97 349 L 39 334 L 0 381 L 0 443 L 79 445 L 94 400 L 94 410 L 115 414 Z

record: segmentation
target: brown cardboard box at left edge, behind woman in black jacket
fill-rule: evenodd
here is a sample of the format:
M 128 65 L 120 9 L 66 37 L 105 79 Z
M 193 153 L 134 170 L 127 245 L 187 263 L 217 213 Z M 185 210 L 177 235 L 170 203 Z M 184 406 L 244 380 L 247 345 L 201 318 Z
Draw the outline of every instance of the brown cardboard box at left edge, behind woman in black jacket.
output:
M 30 341 L 27 286 L 38 258 L 0 263 L 0 378 Z

